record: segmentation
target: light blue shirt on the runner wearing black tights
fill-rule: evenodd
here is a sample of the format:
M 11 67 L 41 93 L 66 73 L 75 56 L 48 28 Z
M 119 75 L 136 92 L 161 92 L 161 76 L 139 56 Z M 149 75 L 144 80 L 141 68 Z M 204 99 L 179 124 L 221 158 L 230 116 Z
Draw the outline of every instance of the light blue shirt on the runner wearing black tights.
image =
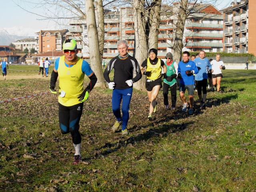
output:
M 201 59 L 200 57 L 197 57 L 194 60 L 194 62 L 196 63 L 197 67 L 201 68 L 199 70 L 199 72 L 196 74 L 195 80 L 202 81 L 203 79 L 207 79 L 208 78 L 207 67 L 208 67 L 208 69 L 212 69 L 212 65 L 211 65 L 209 59 L 207 59 L 207 58 Z

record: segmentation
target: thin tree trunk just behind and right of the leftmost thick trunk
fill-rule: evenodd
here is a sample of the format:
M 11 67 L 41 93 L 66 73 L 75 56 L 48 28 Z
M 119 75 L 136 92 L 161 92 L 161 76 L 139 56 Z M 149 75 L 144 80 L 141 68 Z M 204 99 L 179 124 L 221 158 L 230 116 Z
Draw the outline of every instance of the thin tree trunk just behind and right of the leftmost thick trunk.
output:
M 98 20 L 98 39 L 100 48 L 100 61 L 102 62 L 104 48 L 104 9 L 102 0 L 95 0 L 97 20 Z

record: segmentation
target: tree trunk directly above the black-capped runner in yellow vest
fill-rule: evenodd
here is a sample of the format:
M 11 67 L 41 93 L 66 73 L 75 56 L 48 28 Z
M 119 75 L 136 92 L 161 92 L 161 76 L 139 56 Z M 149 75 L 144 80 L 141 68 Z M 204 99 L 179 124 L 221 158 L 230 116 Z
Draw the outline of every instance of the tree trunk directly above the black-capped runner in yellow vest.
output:
M 149 35 L 148 35 L 148 48 L 158 49 L 158 28 L 160 24 L 162 0 L 156 0 L 152 3 L 152 8 L 149 10 Z

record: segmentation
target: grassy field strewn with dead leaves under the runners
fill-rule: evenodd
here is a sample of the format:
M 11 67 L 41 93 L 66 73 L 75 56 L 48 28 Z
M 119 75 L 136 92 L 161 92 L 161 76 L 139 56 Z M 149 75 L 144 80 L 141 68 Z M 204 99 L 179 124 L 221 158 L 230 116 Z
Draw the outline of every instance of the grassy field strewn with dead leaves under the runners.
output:
M 134 90 L 126 136 L 110 130 L 112 91 L 94 89 L 84 103 L 76 166 L 71 136 L 58 127 L 56 95 L 0 103 L 0 191 L 256 192 L 256 71 L 223 72 L 224 93 L 208 92 L 206 109 L 196 102 L 192 116 L 181 113 L 180 98 L 176 110 L 164 110 L 160 91 L 150 122 L 147 95 Z M 0 101 L 48 91 L 49 81 L 9 70 Z

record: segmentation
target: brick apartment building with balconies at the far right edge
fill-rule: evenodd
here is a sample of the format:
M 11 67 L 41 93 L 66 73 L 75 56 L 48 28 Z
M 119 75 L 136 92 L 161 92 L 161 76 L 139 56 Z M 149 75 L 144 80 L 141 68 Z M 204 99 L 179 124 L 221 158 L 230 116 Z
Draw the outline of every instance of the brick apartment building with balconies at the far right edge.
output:
M 250 8 L 250 12 L 249 12 Z M 254 53 L 256 55 L 256 8 L 253 0 L 234 1 L 221 10 L 224 18 L 223 50 L 228 53 Z

